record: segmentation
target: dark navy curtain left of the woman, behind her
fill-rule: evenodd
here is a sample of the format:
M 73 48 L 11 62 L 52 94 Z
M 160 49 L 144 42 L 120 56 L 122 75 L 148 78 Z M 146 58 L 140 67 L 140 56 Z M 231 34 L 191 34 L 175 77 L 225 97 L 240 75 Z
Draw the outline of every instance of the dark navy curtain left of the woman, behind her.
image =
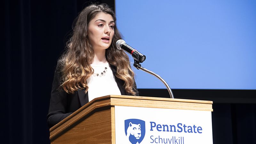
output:
M 99 2 L 114 7 L 114 1 Z M 88 0 L 1 1 L 0 143 L 50 143 L 46 115 L 55 66 L 73 20 L 88 4 Z

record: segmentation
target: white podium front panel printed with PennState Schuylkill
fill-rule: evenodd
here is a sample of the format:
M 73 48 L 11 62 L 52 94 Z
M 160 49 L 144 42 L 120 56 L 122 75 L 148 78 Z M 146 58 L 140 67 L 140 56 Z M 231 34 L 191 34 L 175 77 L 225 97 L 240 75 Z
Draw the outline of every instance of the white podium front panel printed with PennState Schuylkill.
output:
M 116 144 L 212 144 L 211 111 L 115 106 Z

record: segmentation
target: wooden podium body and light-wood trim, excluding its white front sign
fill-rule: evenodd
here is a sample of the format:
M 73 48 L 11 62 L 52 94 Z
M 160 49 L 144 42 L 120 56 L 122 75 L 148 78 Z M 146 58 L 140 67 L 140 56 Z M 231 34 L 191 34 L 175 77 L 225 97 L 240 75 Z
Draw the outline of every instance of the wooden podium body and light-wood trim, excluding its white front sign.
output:
M 51 144 L 115 144 L 117 128 L 115 125 L 115 107 L 118 106 L 126 106 L 127 108 L 213 111 L 212 101 L 108 95 L 90 101 L 60 123 L 54 125 L 50 129 Z M 150 113 L 144 113 L 144 115 L 150 115 Z M 212 125 L 210 127 L 212 128 Z M 205 128 L 203 128 L 203 130 L 204 129 Z M 160 140 L 159 136 L 159 141 Z

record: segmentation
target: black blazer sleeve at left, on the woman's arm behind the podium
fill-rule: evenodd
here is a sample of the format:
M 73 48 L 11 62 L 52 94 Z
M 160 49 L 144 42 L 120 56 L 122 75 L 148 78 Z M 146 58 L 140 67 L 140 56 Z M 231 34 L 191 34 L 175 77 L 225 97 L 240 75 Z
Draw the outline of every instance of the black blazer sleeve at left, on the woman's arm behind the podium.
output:
M 67 113 L 68 93 L 60 87 L 60 84 L 61 66 L 58 62 L 52 82 L 51 100 L 49 112 L 47 115 L 47 123 L 49 128 L 51 128 L 55 124 L 58 124 L 61 120 L 72 114 L 72 112 Z

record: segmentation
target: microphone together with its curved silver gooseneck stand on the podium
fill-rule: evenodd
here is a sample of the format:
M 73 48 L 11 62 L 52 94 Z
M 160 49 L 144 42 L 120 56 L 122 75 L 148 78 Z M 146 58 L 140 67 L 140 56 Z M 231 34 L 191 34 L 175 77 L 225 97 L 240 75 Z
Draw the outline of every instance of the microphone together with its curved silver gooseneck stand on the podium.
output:
M 167 90 L 170 94 L 170 97 L 172 99 L 174 99 L 174 95 L 172 93 L 172 90 L 171 90 L 170 86 L 165 82 L 165 80 L 161 76 L 157 75 L 156 73 L 154 73 L 154 72 L 152 72 L 152 71 L 150 71 L 146 68 L 141 67 L 140 63 L 143 62 L 144 60 L 146 60 L 145 55 L 143 55 L 140 52 L 138 52 L 137 50 L 133 49 L 131 46 L 126 44 L 125 41 L 122 40 L 122 39 L 119 39 L 118 41 L 116 41 L 116 47 L 117 47 L 118 50 L 123 49 L 124 51 L 126 51 L 127 53 L 132 55 L 132 58 L 134 59 L 133 66 L 135 68 L 140 69 L 142 71 L 145 71 L 145 72 L 147 72 L 147 73 L 149 73 L 153 76 L 156 76 L 159 80 L 161 80 L 164 83 L 164 85 L 166 86 L 166 88 L 167 88 Z

